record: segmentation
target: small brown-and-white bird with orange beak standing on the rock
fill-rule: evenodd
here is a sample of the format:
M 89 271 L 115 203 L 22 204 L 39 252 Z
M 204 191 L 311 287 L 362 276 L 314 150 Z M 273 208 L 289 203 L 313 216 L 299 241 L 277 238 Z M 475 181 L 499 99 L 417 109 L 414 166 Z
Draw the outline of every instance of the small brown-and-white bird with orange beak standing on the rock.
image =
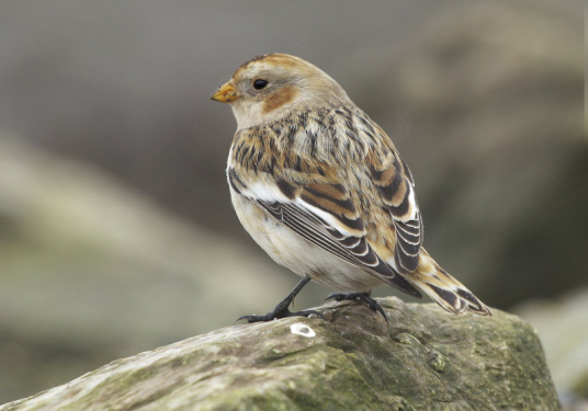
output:
M 302 276 L 267 315 L 248 322 L 301 316 L 290 311 L 310 281 L 327 297 L 360 300 L 391 285 L 444 310 L 491 316 L 425 250 L 415 181 L 386 133 L 342 87 L 313 64 L 267 54 L 242 64 L 212 100 L 237 121 L 226 175 L 237 217 L 280 265 Z M 387 321 L 387 319 L 386 319 Z

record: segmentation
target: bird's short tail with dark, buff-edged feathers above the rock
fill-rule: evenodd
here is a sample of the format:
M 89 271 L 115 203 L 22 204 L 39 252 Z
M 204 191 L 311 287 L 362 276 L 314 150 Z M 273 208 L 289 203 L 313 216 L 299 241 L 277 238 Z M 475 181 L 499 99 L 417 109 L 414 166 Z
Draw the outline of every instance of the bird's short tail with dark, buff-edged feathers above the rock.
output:
M 404 277 L 449 312 L 461 315 L 470 310 L 478 316 L 493 315 L 484 302 L 441 269 L 422 249 L 417 270 L 405 274 Z

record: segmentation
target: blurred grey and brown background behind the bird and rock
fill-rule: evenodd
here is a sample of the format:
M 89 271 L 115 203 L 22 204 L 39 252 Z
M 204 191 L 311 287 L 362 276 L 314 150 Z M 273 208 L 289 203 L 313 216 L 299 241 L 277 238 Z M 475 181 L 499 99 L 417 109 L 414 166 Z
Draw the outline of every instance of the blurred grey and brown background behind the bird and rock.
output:
M 328 72 L 394 139 L 427 249 L 538 328 L 579 410 L 584 18 L 580 0 L 3 0 L 0 403 L 264 313 L 297 283 L 233 212 L 236 124 L 208 100 L 240 64 L 281 52 Z M 309 285 L 296 308 L 330 292 Z

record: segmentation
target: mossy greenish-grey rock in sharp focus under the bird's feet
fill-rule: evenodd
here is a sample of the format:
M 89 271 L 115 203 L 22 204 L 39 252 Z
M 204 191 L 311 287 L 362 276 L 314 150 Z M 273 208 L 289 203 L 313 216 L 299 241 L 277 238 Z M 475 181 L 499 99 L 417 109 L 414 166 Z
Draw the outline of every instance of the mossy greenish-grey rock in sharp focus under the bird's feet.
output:
M 561 410 L 535 330 L 434 305 L 330 302 L 227 327 L 0 407 L 24 410 Z

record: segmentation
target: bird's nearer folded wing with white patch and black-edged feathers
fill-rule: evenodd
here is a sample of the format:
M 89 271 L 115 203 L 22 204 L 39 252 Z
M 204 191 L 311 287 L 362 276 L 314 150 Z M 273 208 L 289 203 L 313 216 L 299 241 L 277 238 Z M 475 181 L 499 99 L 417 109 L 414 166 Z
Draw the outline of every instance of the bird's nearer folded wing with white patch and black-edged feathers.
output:
M 307 241 L 416 297 L 421 294 L 383 261 L 365 238 L 365 226 L 338 181 L 299 184 L 285 179 L 245 184 L 228 170 L 233 190 Z

